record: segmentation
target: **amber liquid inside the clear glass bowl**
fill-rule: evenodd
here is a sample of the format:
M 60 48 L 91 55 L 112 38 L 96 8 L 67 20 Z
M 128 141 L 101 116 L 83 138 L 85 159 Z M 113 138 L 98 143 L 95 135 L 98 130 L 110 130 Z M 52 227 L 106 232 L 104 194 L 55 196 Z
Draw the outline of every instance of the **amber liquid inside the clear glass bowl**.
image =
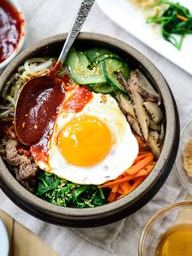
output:
M 192 224 L 178 224 L 162 236 L 155 256 L 192 256 Z

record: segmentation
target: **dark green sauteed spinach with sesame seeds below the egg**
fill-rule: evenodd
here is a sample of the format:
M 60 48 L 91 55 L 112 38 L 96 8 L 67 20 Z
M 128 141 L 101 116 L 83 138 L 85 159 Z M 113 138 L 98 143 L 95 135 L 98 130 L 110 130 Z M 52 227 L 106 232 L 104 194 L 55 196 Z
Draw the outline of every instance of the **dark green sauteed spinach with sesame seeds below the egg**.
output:
M 94 185 L 80 185 L 60 179 L 55 174 L 38 174 L 36 195 L 55 205 L 89 208 L 107 203 L 104 190 Z

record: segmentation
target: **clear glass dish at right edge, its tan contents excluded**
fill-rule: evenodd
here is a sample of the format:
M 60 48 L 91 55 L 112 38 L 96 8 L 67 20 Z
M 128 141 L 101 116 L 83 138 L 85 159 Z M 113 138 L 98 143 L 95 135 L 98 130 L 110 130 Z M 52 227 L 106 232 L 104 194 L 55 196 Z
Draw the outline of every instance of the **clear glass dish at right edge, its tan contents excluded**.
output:
M 179 180 L 182 185 L 190 192 L 192 195 L 192 177 L 186 173 L 185 168 L 183 166 L 183 152 L 185 150 L 185 144 L 192 139 L 192 117 L 185 123 L 185 126 L 181 130 L 179 149 L 177 153 L 176 159 L 176 168 L 177 174 L 179 176 Z

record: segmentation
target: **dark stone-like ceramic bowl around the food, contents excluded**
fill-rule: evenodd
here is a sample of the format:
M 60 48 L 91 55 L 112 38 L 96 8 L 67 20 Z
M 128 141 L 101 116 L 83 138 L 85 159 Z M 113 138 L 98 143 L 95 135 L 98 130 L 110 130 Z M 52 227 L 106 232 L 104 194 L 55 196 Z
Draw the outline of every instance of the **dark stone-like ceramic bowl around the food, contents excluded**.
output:
M 66 34 L 59 34 L 51 38 L 46 38 L 30 46 L 26 51 L 18 55 L 15 60 L 2 73 L 0 79 L 0 90 L 7 82 L 8 77 L 15 73 L 17 67 L 32 57 L 41 55 L 55 56 L 66 39 Z M 160 154 L 154 170 L 143 181 L 143 183 L 128 196 L 124 196 L 113 203 L 89 209 L 74 209 L 52 205 L 41 200 L 37 196 L 28 192 L 12 176 L 2 159 L 0 159 L 0 184 L 2 191 L 21 209 L 42 220 L 69 227 L 95 227 L 112 223 L 129 214 L 133 214 L 148 201 L 162 187 L 168 174 L 172 170 L 173 163 L 177 155 L 179 143 L 179 118 L 177 106 L 172 97 L 172 92 L 167 82 L 155 65 L 151 63 L 142 53 L 132 46 L 121 42 L 115 38 L 96 33 L 81 33 L 76 40 L 78 46 L 103 46 L 120 54 L 124 59 L 129 60 L 131 68 L 139 68 L 149 79 L 151 84 L 162 96 L 164 112 L 166 117 L 166 134 L 164 147 Z

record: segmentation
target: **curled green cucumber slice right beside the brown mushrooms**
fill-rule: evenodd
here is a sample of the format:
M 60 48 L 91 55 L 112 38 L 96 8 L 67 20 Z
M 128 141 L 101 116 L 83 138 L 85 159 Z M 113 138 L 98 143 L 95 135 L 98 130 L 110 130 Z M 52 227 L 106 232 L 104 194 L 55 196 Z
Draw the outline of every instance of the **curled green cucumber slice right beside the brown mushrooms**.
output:
M 121 86 L 120 82 L 117 80 L 117 73 L 121 72 L 125 79 L 129 77 L 129 67 L 124 61 L 107 59 L 102 61 L 103 73 L 107 79 L 107 82 L 111 86 L 114 86 L 117 90 L 124 91 L 124 87 Z

